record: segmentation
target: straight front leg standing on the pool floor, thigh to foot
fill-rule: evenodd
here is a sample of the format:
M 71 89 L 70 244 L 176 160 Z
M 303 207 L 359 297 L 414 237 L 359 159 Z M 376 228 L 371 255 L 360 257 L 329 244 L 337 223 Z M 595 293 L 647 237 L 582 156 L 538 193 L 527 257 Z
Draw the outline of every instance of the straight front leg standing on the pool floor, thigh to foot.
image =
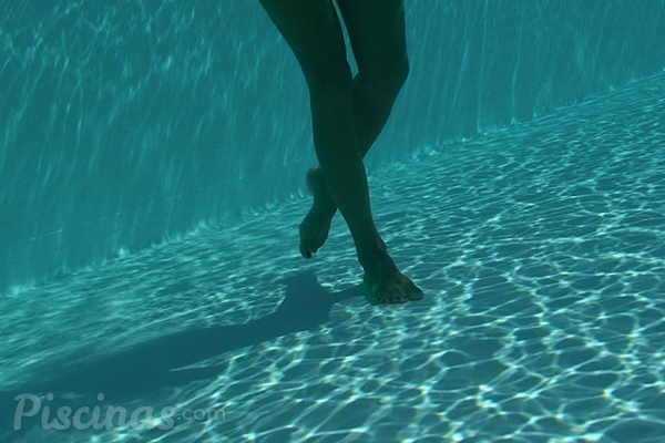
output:
M 314 143 L 326 185 L 365 269 L 370 302 L 422 298 L 385 250 L 371 216 L 354 127 L 352 79 L 337 13 L 329 0 L 260 0 L 294 51 L 309 87 Z

